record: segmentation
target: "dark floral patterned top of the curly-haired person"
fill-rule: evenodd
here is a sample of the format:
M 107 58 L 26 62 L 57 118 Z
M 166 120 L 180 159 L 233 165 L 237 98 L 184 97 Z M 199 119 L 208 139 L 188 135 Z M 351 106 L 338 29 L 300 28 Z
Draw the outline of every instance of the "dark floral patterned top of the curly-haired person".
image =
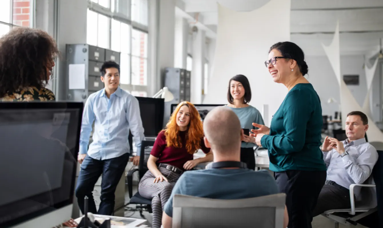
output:
M 0 98 L 0 101 L 49 101 L 56 100 L 53 92 L 47 88 L 38 90 L 36 87 L 28 87 L 21 91 L 7 94 Z

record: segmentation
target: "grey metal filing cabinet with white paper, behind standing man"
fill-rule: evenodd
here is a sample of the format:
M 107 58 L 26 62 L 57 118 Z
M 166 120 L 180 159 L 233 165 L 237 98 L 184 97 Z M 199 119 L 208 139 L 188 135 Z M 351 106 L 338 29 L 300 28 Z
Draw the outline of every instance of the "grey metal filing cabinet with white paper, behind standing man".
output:
M 120 53 L 88 44 L 67 44 L 67 100 L 85 102 L 90 94 L 104 87 L 101 81 L 100 69 L 105 61 L 115 61 L 119 64 Z M 69 65 L 85 64 L 85 88 L 69 88 Z

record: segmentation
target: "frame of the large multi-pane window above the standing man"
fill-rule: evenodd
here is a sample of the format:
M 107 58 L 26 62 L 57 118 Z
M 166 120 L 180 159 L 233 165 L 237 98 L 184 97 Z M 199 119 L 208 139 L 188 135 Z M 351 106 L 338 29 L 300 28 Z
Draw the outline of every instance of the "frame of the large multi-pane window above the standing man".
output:
M 113 5 L 112 4 L 112 1 L 114 1 L 114 12 L 112 12 L 111 10 L 111 6 Z M 129 84 L 121 84 L 120 83 L 120 87 L 121 89 L 125 90 L 125 91 L 138 91 L 138 92 L 145 92 L 146 94 L 149 94 L 149 89 L 150 89 L 150 86 L 149 86 L 149 29 L 148 29 L 148 26 L 147 25 L 144 25 L 144 24 L 139 24 L 137 23 L 136 21 L 132 21 L 131 20 L 131 0 L 127 0 L 128 1 L 128 6 L 129 6 L 129 16 L 127 15 L 124 15 L 123 13 L 121 12 L 118 12 L 117 9 L 118 9 L 118 6 L 117 4 L 118 3 L 122 3 L 121 1 L 118 1 L 118 0 L 109 0 L 109 8 L 105 8 L 101 5 L 99 5 L 98 3 L 95 3 L 95 2 L 92 2 L 91 0 L 87 0 L 88 2 L 88 9 L 90 11 L 93 11 L 95 13 L 98 13 L 98 14 L 101 14 L 101 15 L 104 15 L 108 18 L 110 18 L 110 24 L 109 24 L 109 28 L 110 28 L 110 32 L 109 32 L 109 49 L 111 50 L 111 42 L 112 42 L 112 39 L 111 39 L 111 34 L 112 34 L 112 31 L 111 31 L 111 26 L 112 26 L 112 19 L 116 20 L 116 21 L 119 21 L 120 23 L 125 23 L 125 24 L 128 24 L 130 26 L 130 39 L 129 39 L 129 53 L 124 53 L 124 54 L 128 54 L 129 56 L 129 70 L 130 70 L 130 76 L 129 76 Z M 148 15 L 148 20 L 149 20 L 149 4 L 148 4 L 148 9 L 147 9 L 147 15 Z M 133 71 L 133 68 L 132 68 L 132 57 L 137 57 L 136 55 L 133 55 L 132 54 L 132 43 L 133 43 L 133 30 L 138 30 L 140 32 L 144 32 L 147 34 L 147 44 L 146 44 L 146 57 L 139 57 L 139 58 L 144 58 L 146 60 L 146 85 L 133 85 L 132 82 L 133 82 L 133 77 L 132 77 L 132 71 Z M 121 42 L 121 41 L 120 41 Z M 121 53 L 121 47 L 120 47 L 120 51 Z M 121 63 L 121 61 L 120 61 Z

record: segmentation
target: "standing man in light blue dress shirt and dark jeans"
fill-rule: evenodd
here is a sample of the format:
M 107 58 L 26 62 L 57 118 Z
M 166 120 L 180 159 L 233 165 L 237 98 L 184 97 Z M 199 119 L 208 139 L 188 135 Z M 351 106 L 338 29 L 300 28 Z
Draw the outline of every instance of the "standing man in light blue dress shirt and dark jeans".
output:
M 137 152 L 144 140 L 138 100 L 119 87 L 119 69 L 117 63 L 105 62 L 101 66 L 101 81 L 105 88 L 91 94 L 85 102 L 78 156 L 81 166 L 75 190 L 82 213 L 87 196 L 88 212 L 112 215 L 115 190 L 129 160 L 129 129 Z M 88 149 L 93 122 L 93 142 Z M 137 155 L 131 158 L 134 165 L 139 161 Z M 97 211 L 92 191 L 101 174 L 101 202 Z

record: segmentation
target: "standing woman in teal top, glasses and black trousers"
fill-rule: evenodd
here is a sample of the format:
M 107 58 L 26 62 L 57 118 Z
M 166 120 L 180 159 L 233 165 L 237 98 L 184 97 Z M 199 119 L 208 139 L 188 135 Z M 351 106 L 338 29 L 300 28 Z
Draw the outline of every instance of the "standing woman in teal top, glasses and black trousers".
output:
M 291 42 L 274 44 L 265 65 L 273 81 L 288 94 L 270 128 L 252 130 L 255 143 L 268 150 L 270 170 L 280 192 L 286 193 L 289 228 L 311 228 L 312 211 L 324 182 L 326 165 L 321 145 L 322 108 L 318 94 L 303 76 L 308 73 L 303 51 Z

